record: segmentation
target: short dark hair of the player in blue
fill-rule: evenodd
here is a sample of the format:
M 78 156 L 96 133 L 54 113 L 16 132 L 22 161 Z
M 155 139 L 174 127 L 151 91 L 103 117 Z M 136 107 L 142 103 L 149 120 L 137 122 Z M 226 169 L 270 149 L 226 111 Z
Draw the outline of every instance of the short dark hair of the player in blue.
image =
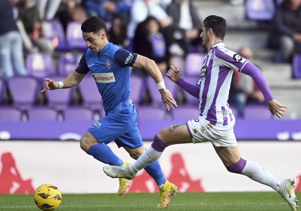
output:
M 107 26 L 104 23 L 104 21 L 97 17 L 97 16 L 91 16 L 88 17 L 83 23 L 82 23 L 82 32 L 93 32 L 93 34 L 100 33 L 100 31 L 105 31 L 107 33 Z

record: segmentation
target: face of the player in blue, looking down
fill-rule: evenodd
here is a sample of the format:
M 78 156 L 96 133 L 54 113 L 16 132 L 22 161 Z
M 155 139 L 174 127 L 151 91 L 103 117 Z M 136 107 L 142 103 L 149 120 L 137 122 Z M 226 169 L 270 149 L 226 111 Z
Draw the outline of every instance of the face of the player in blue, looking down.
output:
M 93 53 L 97 53 L 104 47 L 106 33 L 104 31 L 96 34 L 93 32 L 83 32 L 82 37 L 86 41 L 87 47 L 91 49 Z

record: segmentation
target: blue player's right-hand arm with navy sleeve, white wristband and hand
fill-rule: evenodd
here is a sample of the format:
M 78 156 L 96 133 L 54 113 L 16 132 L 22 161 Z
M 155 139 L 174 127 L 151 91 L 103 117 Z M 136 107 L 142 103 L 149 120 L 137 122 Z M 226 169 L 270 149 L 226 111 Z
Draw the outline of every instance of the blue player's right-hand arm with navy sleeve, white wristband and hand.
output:
M 178 107 L 177 102 L 175 102 L 175 99 L 172 97 L 172 94 L 168 89 L 165 88 L 163 76 L 153 60 L 136 53 L 131 53 L 125 49 L 119 49 L 115 53 L 114 57 L 118 65 L 121 67 L 130 66 L 142 68 L 146 70 L 148 74 L 150 74 L 158 86 L 159 92 L 161 93 L 162 102 L 167 111 L 169 111 L 168 106 L 170 106 L 172 109 L 175 109 L 174 106 Z

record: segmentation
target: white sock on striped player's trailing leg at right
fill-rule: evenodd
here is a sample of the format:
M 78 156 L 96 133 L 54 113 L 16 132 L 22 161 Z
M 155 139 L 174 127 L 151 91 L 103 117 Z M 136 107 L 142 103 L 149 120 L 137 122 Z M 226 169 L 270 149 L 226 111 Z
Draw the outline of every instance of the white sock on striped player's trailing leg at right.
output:
M 268 185 L 279 192 L 281 180 L 255 162 L 247 160 L 246 166 L 240 174 L 246 175 L 247 177 L 250 177 L 250 179 L 261 184 Z

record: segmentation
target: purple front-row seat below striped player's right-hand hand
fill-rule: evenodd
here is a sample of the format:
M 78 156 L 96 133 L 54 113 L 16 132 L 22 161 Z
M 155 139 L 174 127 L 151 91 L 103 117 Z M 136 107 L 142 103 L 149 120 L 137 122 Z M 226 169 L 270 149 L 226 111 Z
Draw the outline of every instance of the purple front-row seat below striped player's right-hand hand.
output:
M 247 105 L 244 108 L 244 119 L 271 119 L 272 117 L 267 105 Z

